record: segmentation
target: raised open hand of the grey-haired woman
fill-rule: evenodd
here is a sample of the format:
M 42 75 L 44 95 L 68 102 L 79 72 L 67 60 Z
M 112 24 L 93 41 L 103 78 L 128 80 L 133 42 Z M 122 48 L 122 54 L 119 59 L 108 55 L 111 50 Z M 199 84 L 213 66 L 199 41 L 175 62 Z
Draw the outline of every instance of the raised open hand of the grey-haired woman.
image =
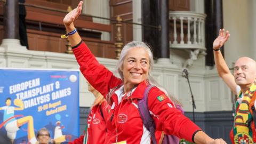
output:
M 63 23 L 66 28 L 68 28 L 70 24 L 73 23 L 75 19 L 78 18 L 78 16 L 81 14 L 82 6 L 83 1 L 80 1 L 76 9 L 72 10 L 65 16 L 65 18 L 63 19 Z

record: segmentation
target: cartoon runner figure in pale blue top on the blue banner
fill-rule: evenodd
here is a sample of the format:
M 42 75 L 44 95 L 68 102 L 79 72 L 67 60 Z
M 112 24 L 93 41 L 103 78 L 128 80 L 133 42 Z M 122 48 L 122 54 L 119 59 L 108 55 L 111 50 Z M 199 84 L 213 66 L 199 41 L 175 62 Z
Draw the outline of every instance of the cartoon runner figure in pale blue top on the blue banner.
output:
M 31 144 L 36 143 L 37 140 L 34 132 L 33 117 L 32 116 L 23 117 L 22 115 L 14 115 L 15 110 L 24 109 L 24 104 L 20 99 L 14 99 L 13 101 L 14 105 L 17 107 L 11 106 L 11 103 L 12 103 L 11 98 L 7 98 L 5 100 L 6 106 L 0 107 L 0 110 L 4 110 L 3 123 L 0 124 L 0 129 L 2 128 L 2 126 L 4 126 L 5 130 L 7 131 L 7 137 L 10 138 L 12 142 L 14 142 L 17 131 L 20 129 L 19 127 L 27 123 L 28 140 Z

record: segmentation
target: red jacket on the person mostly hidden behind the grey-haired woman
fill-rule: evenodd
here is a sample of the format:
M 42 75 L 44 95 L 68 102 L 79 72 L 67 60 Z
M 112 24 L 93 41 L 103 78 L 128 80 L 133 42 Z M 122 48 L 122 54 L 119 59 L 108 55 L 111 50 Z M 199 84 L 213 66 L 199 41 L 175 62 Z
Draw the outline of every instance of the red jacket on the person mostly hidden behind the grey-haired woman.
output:
M 107 127 L 106 119 L 109 115 L 110 106 L 106 101 L 101 105 L 93 106 L 87 118 L 87 137 L 86 144 L 103 144 L 106 143 Z M 103 115 L 103 117 L 102 117 Z M 69 144 L 83 144 L 84 135 L 75 139 Z

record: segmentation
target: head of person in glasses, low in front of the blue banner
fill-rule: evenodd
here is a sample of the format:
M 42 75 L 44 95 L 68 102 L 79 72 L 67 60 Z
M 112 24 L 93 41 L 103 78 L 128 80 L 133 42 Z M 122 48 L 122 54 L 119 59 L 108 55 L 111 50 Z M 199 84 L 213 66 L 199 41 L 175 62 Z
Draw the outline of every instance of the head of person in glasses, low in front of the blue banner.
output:
M 45 127 L 43 127 L 37 132 L 36 138 L 39 144 L 55 143 L 54 140 L 51 139 L 50 132 Z

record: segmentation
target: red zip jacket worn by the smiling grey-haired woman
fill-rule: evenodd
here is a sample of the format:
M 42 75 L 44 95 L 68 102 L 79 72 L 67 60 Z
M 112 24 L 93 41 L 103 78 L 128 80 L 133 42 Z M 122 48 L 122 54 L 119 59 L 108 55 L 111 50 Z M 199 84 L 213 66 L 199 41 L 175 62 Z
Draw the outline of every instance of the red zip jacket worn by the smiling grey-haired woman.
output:
M 87 81 L 105 98 L 112 89 L 110 114 L 107 120 L 109 132 L 106 143 L 150 143 L 150 133 L 143 126 L 137 102 L 142 99 L 147 82 L 141 82 L 128 94 L 123 94 L 122 80 L 101 65 L 85 43 L 73 47 L 80 70 Z M 115 89 L 116 87 L 119 89 Z M 119 99 L 119 100 L 118 100 Z M 148 94 L 148 107 L 154 118 L 156 130 L 174 134 L 191 142 L 201 129 L 174 108 L 173 103 L 157 87 Z

